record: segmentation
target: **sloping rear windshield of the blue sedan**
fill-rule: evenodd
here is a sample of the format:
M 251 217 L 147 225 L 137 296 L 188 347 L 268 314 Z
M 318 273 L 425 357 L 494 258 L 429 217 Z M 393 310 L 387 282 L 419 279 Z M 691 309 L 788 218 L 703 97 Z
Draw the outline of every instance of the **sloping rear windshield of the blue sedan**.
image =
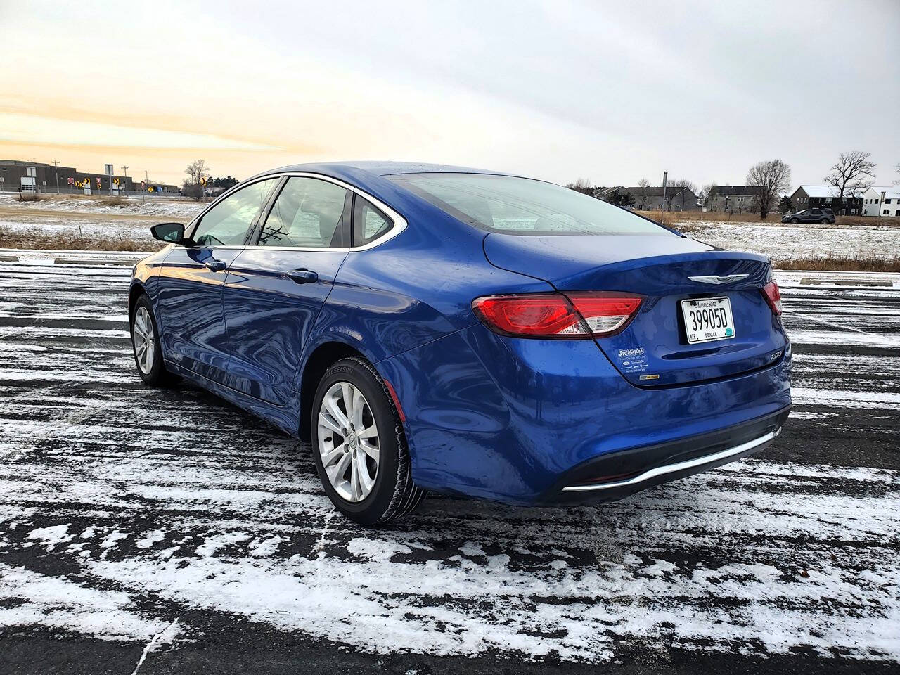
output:
M 509 234 L 662 234 L 652 220 L 529 178 L 484 174 L 389 175 L 394 183 L 450 215 L 491 232 Z

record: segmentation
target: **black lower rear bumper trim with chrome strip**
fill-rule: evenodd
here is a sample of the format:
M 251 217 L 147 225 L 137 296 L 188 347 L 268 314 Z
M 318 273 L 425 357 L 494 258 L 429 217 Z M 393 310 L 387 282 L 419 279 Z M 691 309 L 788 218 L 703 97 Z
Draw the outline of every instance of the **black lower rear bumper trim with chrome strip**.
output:
M 621 500 L 647 488 L 743 459 L 770 446 L 789 409 L 732 428 L 602 455 L 576 466 L 539 503 Z

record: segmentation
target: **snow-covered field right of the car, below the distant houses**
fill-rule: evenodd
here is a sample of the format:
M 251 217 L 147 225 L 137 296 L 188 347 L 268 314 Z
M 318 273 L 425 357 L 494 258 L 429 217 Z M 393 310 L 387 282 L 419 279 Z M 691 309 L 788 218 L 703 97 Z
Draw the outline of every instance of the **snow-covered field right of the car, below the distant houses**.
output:
M 685 234 L 716 247 L 750 251 L 777 260 L 796 257 L 900 256 L 900 228 L 762 225 L 752 222 L 687 220 Z

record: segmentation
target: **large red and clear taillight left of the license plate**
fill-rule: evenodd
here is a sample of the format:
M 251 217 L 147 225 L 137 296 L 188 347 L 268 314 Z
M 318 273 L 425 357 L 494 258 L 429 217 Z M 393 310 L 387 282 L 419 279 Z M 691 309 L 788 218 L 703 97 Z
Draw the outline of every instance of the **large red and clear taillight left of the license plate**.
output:
M 594 338 L 625 329 L 642 300 L 625 293 L 523 293 L 476 298 L 472 309 L 501 335 Z

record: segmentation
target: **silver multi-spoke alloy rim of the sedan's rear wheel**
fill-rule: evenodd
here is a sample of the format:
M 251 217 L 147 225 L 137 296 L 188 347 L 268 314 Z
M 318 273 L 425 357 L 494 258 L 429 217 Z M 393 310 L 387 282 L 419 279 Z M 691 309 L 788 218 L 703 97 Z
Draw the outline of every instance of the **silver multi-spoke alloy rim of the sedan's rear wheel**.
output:
M 365 500 L 375 485 L 381 451 L 363 392 L 348 382 L 332 384 L 322 398 L 318 428 L 319 454 L 331 487 L 347 501 Z

